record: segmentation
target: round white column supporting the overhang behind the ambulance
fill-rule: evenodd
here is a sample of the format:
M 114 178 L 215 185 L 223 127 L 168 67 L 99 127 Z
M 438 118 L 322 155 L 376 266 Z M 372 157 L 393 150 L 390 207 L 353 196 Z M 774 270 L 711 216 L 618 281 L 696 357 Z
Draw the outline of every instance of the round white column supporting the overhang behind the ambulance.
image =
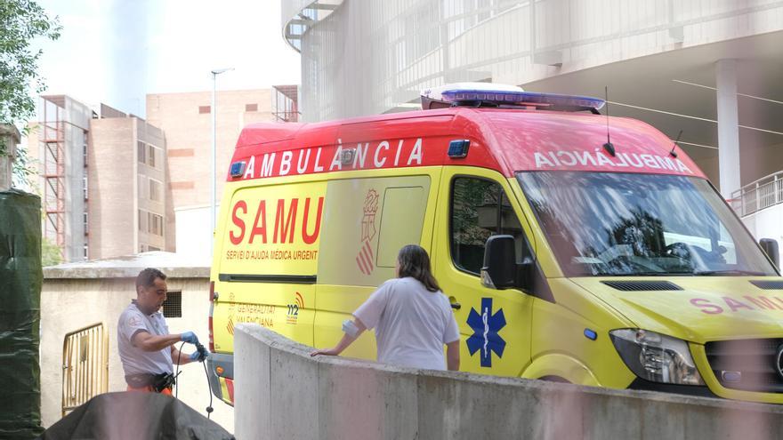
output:
M 715 63 L 715 86 L 718 89 L 718 171 L 721 195 L 729 199 L 740 186 L 737 60 Z

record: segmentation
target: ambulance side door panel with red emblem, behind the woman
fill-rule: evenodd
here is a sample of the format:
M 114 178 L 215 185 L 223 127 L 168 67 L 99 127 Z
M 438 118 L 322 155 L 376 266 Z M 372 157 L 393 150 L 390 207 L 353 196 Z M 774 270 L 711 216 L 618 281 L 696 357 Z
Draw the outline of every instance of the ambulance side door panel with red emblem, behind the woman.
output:
M 432 243 L 434 204 L 440 168 L 362 172 L 330 180 L 324 212 L 316 286 L 315 347 L 333 347 L 342 323 L 394 277 L 400 248 Z M 356 172 L 359 173 L 359 172 Z M 356 175 L 356 174 L 354 174 Z M 359 177 L 361 176 L 361 177 Z M 429 225 L 429 226 L 425 226 Z M 375 359 L 375 337 L 363 334 L 344 356 Z

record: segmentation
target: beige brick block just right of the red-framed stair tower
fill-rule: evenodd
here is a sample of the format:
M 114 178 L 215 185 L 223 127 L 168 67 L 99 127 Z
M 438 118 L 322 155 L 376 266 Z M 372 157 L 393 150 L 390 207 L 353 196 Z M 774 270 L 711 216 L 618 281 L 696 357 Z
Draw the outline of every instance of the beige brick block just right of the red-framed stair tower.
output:
M 90 124 L 87 163 L 90 260 L 173 250 L 163 131 L 101 105 Z

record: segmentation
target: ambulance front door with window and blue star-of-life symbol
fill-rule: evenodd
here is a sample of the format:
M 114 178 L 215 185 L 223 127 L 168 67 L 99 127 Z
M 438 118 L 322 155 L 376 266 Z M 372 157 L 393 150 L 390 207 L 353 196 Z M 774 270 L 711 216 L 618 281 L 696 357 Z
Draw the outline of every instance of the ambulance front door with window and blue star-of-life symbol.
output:
M 459 324 L 463 371 L 519 376 L 530 362 L 533 297 L 517 289 L 490 289 L 480 280 L 489 236 L 513 236 L 518 261 L 532 256 L 529 224 L 520 212 L 500 173 L 444 168 L 432 260 Z

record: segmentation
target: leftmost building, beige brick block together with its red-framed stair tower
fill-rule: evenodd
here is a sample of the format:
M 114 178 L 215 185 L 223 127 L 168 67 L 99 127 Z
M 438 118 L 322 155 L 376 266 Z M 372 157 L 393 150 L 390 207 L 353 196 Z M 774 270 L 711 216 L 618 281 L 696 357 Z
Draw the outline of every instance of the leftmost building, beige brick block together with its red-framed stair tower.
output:
M 28 151 L 37 164 L 44 237 L 66 262 L 174 248 L 165 136 L 101 104 L 42 96 Z M 167 236 L 168 234 L 168 236 Z

